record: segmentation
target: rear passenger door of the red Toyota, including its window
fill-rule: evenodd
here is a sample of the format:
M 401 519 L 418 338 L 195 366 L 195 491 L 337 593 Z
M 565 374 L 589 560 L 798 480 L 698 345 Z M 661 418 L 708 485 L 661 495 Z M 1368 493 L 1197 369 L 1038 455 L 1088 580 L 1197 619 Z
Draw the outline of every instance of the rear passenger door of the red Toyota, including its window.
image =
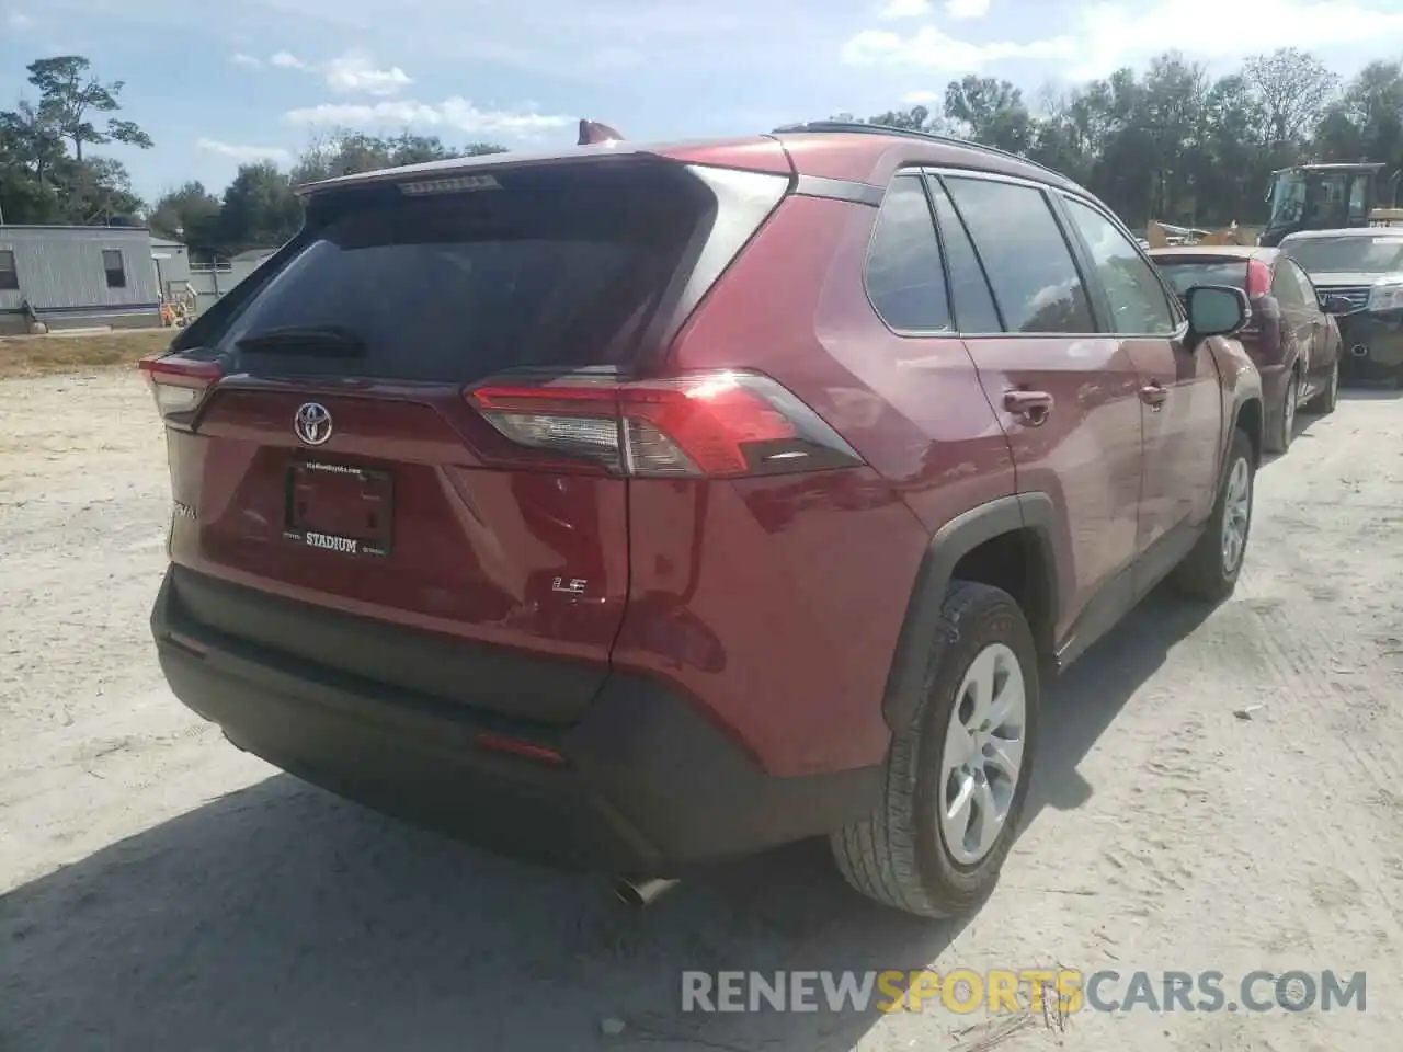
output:
M 1076 651 L 1132 596 L 1139 375 L 1118 341 L 1097 331 L 1045 188 L 943 171 L 932 191 L 955 323 L 1009 436 L 1019 491 L 1048 494 L 1062 518 L 1072 579 L 1056 638 Z M 964 278 L 961 252 L 971 259 Z

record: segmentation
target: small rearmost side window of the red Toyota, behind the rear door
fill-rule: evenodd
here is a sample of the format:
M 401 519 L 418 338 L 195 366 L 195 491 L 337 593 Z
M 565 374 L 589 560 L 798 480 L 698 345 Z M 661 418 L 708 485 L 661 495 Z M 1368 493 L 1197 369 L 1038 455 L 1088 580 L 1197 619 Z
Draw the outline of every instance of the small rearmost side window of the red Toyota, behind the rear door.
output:
M 877 213 L 867 252 L 867 297 L 894 330 L 950 328 L 940 244 L 919 175 L 897 177 Z

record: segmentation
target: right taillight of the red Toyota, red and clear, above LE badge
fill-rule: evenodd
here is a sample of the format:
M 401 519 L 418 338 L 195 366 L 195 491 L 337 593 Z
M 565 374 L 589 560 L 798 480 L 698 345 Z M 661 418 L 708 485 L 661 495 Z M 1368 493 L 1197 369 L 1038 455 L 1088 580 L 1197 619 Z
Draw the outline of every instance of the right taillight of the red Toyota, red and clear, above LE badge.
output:
M 629 383 L 487 382 L 464 396 L 522 466 L 637 477 L 788 474 L 861 464 L 817 412 L 767 376 L 689 373 Z

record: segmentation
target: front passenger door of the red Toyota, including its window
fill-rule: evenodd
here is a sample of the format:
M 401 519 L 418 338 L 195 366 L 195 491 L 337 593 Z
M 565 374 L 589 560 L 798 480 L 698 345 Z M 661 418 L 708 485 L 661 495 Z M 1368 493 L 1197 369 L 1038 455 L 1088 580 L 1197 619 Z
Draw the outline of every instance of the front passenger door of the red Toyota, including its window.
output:
M 1183 325 L 1153 265 L 1104 212 L 1062 195 L 1099 279 L 1111 330 L 1141 375 L 1145 435 L 1136 530 L 1136 596 L 1188 551 L 1186 529 L 1212 512 L 1218 494 L 1222 396 L 1212 355 L 1183 342 Z

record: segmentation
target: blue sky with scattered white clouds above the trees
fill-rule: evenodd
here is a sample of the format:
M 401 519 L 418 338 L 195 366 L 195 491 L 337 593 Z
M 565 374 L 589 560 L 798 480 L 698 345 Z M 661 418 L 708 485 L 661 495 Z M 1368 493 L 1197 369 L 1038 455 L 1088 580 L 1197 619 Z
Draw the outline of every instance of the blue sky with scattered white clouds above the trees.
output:
M 1403 55 L 1403 0 L 0 0 L 0 108 L 29 60 L 125 80 L 150 151 L 109 150 L 154 196 L 220 191 L 333 126 L 571 143 L 767 130 L 937 98 L 964 73 L 1035 97 L 1177 46 L 1223 72 L 1309 48 L 1341 73 Z

